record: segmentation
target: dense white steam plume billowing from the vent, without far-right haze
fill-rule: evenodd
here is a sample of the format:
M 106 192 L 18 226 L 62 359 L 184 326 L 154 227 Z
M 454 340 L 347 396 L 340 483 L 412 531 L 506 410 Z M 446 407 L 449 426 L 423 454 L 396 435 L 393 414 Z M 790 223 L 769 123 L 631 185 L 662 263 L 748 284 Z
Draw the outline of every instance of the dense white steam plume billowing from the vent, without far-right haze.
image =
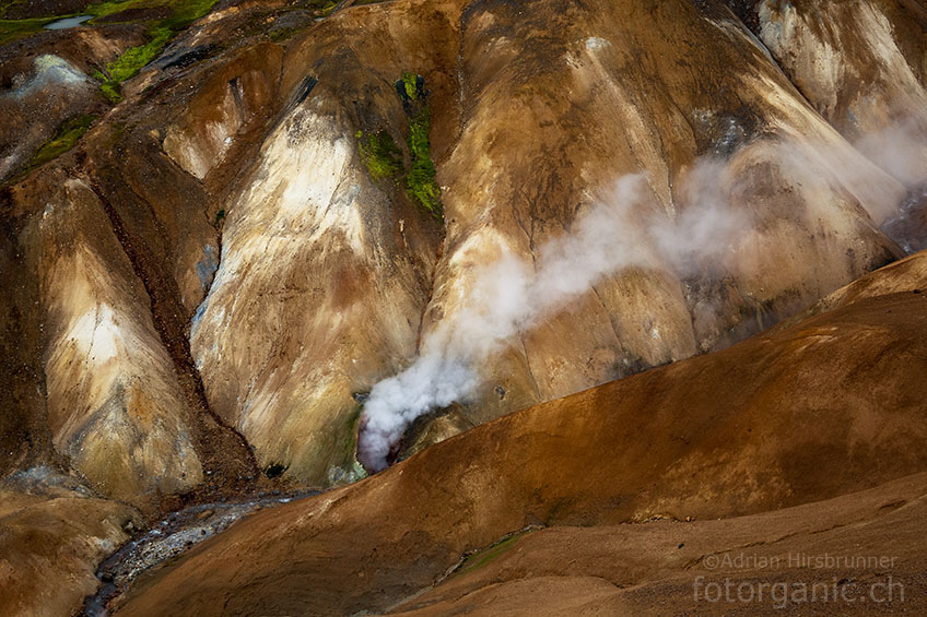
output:
M 715 163 L 696 169 L 696 179 L 716 173 Z M 480 384 L 476 368 L 603 276 L 654 259 L 654 249 L 680 270 L 697 268 L 723 251 L 747 221 L 720 199 L 703 199 L 676 221 L 654 218 L 644 237 L 622 233 L 642 214 L 647 194 L 643 176 L 617 182 L 614 199 L 580 213 L 570 234 L 539 250 L 531 268 L 505 248 L 478 272 L 467 305 L 443 320 L 422 342 L 419 358 L 406 370 L 374 385 L 364 405 L 359 459 L 368 471 L 387 466 L 391 448 L 419 416 L 466 401 Z M 712 195 L 711 191 L 700 191 Z M 653 212 L 653 211 L 652 211 Z

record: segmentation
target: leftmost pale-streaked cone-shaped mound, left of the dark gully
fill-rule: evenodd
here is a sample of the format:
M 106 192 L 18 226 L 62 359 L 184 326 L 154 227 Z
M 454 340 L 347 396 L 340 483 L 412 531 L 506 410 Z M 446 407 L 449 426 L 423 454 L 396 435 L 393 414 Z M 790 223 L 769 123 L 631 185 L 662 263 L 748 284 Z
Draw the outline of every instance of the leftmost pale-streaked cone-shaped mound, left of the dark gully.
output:
M 151 321 L 143 289 L 73 234 L 99 209 L 91 189 L 68 180 L 64 202 L 49 205 L 43 237 L 43 296 L 48 346 L 48 422 L 58 451 L 103 495 L 143 503 L 202 479 L 183 417 L 186 402 Z M 97 216 L 105 218 L 102 210 Z M 139 298 L 141 299 L 141 298 Z

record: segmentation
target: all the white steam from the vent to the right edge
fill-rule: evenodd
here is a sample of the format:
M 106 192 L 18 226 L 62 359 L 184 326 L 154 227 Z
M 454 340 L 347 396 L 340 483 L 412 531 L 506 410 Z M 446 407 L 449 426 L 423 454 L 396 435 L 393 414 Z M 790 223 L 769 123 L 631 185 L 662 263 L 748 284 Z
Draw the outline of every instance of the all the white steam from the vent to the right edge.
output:
M 866 138 L 858 151 L 784 140 L 766 152 L 791 182 L 837 182 L 878 225 L 899 216 L 905 190 L 927 180 L 927 150 L 917 134 L 924 132 L 893 127 Z M 415 418 L 467 402 L 480 385 L 479 366 L 603 276 L 629 266 L 669 266 L 682 275 L 717 271 L 725 253 L 755 238 L 748 233 L 752 204 L 735 206 L 725 197 L 737 192 L 732 167 L 717 158 L 696 162 L 677 191 L 685 207 L 673 217 L 656 206 L 643 176 L 625 176 L 612 199 L 580 211 L 566 235 L 543 245 L 533 265 L 500 246 L 500 258 L 474 274 L 466 305 L 426 332 L 419 358 L 374 385 L 364 406 L 359 461 L 369 472 L 385 468 Z

